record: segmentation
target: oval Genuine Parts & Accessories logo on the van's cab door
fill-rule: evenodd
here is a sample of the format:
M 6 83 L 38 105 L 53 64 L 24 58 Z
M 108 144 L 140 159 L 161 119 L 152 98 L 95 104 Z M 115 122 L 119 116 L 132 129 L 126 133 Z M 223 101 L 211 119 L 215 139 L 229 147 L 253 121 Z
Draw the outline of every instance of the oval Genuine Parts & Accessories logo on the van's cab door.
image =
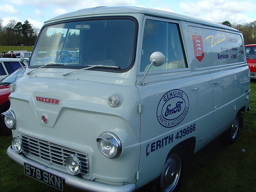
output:
M 189 101 L 182 90 L 171 90 L 163 95 L 157 106 L 158 122 L 164 127 L 174 127 L 186 117 Z

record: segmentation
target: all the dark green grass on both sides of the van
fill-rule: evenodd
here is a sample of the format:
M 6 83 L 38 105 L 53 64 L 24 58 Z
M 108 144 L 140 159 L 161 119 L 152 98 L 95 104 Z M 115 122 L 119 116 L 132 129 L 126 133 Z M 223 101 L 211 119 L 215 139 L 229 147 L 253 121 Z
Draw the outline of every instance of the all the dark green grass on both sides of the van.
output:
M 244 127 L 238 140 L 226 146 L 216 139 L 195 154 L 188 162 L 179 192 L 256 191 L 255 103 L 256 80 L 252 80 L 251 111 L 244 116 Z M 23 166 L 6 155 L 11 140 L 11 136 L 0 135 L 0 191 L 58 191 L 24 175 Z M 63 188 L 80 191 L 67 185 Z M 144 189 L 136 192 L 144 192 Z

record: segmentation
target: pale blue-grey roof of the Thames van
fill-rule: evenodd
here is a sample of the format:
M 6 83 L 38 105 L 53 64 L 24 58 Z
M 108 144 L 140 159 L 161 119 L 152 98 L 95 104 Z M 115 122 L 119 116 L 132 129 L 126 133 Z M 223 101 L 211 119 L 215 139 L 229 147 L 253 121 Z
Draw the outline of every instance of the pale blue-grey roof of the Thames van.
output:
M 88 9 L 80 9 L 75 12 L 62 14 L 56 17 L 53 17 L 45 22 L 45 24 L 49 24 L 51 22 L 56 22 L 63 19 L 71 19 L 71 18 L 81 18 L 83 16 L 89 16 L 89 15 L 100 15 L 100 14 L 113 14 L 113 13 L 142 13 L 145 15 L 150 16 L 157 16 L 157 17 L 163 17 L 163 18 L 170 18 L 170 19 L 176 19 L 176 20 L 183 20 L 186 22 L 192 22 L 197 23 L 205 26 L 211 26 L 211 27 L 218 27 L 221 29 L 228 29 L 232 31 L 237 31 L 234 28 L 217 24 L 214 22 L 209 22 L 207 20 L 195 18 L 195 17 L 189 17 L 185 15 L 180 15 L 177 13 L 167 12 L 167 11 L 161 11 L 156 9 L 149 9 L 149 8 L 142 8 L 142 7 L 94 7 L 94 8 L 88 8 Z

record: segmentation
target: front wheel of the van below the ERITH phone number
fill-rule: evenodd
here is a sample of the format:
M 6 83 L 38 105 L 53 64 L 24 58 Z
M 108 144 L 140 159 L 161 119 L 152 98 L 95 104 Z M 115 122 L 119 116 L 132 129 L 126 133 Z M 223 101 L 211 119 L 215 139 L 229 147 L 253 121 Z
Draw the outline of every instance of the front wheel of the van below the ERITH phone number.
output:
M 160 176 L 160 189 L 163 192 L 177 191 L 184 172 L 184 158 L 177 151 L 166 160 Z

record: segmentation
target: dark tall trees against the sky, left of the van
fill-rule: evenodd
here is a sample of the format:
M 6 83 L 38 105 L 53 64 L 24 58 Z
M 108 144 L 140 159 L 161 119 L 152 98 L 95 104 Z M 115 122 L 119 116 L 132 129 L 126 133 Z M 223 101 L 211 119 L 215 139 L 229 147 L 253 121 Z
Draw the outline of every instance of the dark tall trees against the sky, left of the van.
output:
M 38 32 L 39 29 L 33 27 L 28 20 L 22 24 L 22 22 L 11 19 L 6 26 L 3 26 L 3 19 L 0 18 L 1 46 L 33 46 Z

